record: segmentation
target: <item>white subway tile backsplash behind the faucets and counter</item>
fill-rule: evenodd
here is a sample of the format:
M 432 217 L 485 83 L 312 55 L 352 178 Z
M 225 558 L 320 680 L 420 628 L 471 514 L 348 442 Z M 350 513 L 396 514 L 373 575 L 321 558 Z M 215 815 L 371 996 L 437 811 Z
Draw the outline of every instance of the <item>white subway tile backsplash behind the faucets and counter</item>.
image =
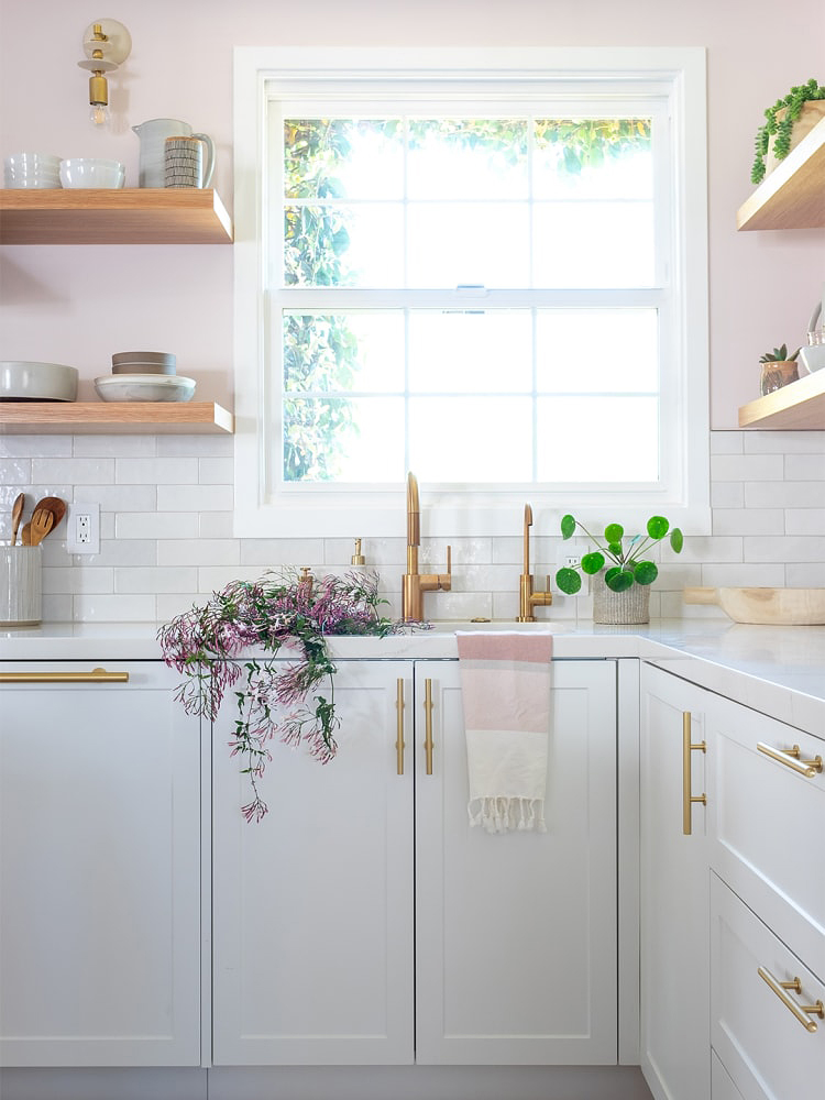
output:
M 0 437 L 0 539 L 9 537 L 18 492 L 31 504 L 54 495 L 100 505 L 100 553 L 68 554 L 66 527 L 44 543 L 44 613 L 56 622 L 166 622 L 230 581 L 254 581 L 282 565 L 308 565 L 316 575 L 346 573 L 356 530 L 345 539 L 234 537 L 232 453 L 232 438 L 219 436 Z M 651 614 L 723 614 L 684 605 L 686 585 L 825 586 L 825 431 L 714 432 L 711 454 L 712 535 L 689 531 L 681 556 L 667 546 L 654 548 L 660 572 Z M 537 588 L 572 546 L 546 527 L 537 513 L 530 532 Z M 443 572 L 448 542 L 453 588 L 429 593 L 427 614 L 515 619 L 521 515 L 514 516 L 513 534 L 504 539 L 425 538 L 422 572 Z M 361 552 L 366 568 L 380 574 L 380 592 L 388 601 L 383 613 L 397 617 L 406 563 L 403 510 L 398 537 L 364 537 Z M 539 608 L 537 618 L 592 616 L 588 594 L 566 597 L 554 583 L 551 587 L 553 604 Z

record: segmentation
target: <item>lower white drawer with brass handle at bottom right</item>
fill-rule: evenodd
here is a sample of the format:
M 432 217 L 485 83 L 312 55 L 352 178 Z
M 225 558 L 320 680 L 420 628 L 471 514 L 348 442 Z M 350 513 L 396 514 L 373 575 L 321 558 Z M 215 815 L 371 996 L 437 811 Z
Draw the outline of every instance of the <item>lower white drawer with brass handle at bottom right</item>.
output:
M 783 1003 L 762 975 L 799 978 L 800 990 L 783 990 Z M 825 986 L 712 875 L 711 1042 L 743 1096 L 822 1100 L 825 1020 L 801 1011 L 817 1001 Z

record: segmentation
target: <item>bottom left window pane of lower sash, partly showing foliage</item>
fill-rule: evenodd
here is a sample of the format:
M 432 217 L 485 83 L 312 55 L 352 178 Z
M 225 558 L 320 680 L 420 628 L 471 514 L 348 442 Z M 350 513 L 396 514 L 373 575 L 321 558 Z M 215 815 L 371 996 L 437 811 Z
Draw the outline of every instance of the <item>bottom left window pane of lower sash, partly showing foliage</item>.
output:
M 292 397 L 284 402 L 284 481 L 404 480 L 404 402 Z

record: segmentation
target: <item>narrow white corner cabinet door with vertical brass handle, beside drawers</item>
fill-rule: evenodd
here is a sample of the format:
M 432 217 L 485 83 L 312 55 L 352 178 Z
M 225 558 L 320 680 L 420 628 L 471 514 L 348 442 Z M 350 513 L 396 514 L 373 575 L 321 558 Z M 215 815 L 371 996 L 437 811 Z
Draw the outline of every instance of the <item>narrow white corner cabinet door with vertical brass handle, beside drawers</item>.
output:
M 657 1100 L 708 1100 L 707 811 L 688 800 L 706 791 L 690 746 L 712 696 L 649 664 L 640 690 L 641 1067 Z

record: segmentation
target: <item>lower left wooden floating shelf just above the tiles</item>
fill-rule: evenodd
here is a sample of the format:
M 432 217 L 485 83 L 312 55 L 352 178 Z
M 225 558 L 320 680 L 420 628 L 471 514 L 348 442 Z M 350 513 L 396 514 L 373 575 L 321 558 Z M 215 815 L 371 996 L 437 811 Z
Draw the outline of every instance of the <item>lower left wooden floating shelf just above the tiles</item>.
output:
M 218 435 L 234 417 L 213 402 L 2 402 L 0 435 Z

